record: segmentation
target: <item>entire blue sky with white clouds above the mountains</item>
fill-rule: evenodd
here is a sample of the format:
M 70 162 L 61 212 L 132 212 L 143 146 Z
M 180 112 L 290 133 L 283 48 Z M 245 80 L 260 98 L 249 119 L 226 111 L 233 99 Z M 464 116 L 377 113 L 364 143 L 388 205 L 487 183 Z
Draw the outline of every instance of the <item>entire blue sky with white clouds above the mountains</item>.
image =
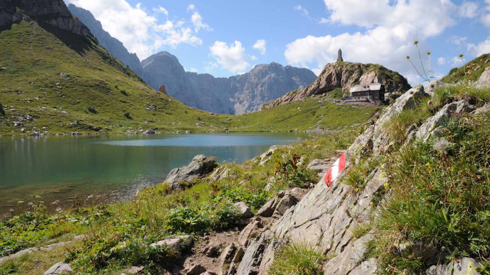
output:
M 345 61 L 379 63 L 417 84 L 405 59 L 417 61 L 416 39 L 437 77 L 462 65 L 460 53 L 490 52 L 490 0 L 65 1 L 90 10 L 141 60 L 166 50 L 187 71 L 216 77 L 270 62 L 318 74 L 342 48 Z

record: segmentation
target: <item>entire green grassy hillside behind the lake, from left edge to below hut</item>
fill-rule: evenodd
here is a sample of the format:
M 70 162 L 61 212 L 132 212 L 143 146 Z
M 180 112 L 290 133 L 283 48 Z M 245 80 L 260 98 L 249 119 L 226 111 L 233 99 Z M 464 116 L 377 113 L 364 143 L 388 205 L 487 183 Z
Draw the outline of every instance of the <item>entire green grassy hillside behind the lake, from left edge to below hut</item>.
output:
M 108 133 L 140 127 L 160 132 L 213 132 L 224 127 L 240 132 L 340 129 L 364 123 L 374 112 L 308 99 L 236 118 L 211 115 L 156 93 L 94 40 L 49 25 L 13 24 L 0 32 L 0 47 L 0 68 L 5 68 L 0 70 L 3 135 L 22 135 L 23 128 L 25 135 L 97 133 L 90 126 Z M 341 116 L 348 119 L 337 119 Z M 71 124 L 75 120 L 78 125 Z M 15 127 L 15 122 L 21 125 Z

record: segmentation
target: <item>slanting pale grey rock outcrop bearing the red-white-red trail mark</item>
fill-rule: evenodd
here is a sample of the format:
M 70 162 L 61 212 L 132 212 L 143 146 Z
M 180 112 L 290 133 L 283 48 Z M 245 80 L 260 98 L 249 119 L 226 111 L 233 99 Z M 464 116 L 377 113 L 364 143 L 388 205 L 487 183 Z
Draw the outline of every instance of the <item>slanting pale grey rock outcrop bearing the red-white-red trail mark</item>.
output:
M 366 152 L 372 154 L 372 157 L 385 154 L 392 144 L 392 138 L 384 127 L 385 123 L 403 110 L 415 108 L 416 103 L 426 96 L 428 94 L 421 85 L 400 96 L 348 148 L 347 169 L 344 171 L 348 171 L 348 167 Z M 465 100 L 448 103 L 418 129 L 414 128 L 414 137 L 425 140 L 433 135 L 435 129 L 446 125 L 445 116 L 473 110 L 474 106 Z M 359 223 L 369 222 L 369 214 L 378 207 L 378 204 L 371 204 L 376 197 L 382 200 L 389 197 L 384 188 L 388 179 L 383 171 L 381 166 L 375 168 L 366 179 L 366 187 L 358 192 L 353 191 L 354 187 L 342 183 L 345 172 L 334 181 L 332 188 L 320 180 L 297 204 L 284 207 L 283 211 L 278 211 L 281 209 L 278 206 L 285 198 L 284 195 L 280 198 L 280 193 L 257 212 L 258 216 L 271 216 L 279 212 L 279 218 L 262 233 L 252 235 L 247 240 L 245 255 L 237 268 L 237 274 L 267 274 L 280 246 L 285 242 L 297 241 L 307 241 L 308 245 L 315 246 L 319 252 L 335 255 L 323 267 L 325 275 L 376 274 L 378 264 L 376 259 L 368 258 L 367 247 L 368 242 L 374 238 L 373 233 L 368 232 L 360 238 L 354 238 L 350 229 Z M 280 212 L 283 214 L 280 215 Z M 397 248 L 414 252 L 426 259 L 428 274 L 451 274 L 449 265 L 438 265 L 437 259 L 434 260 L 440 252 L 424 244 L 403 244 Z M 453 264 L 453 274 L 478 274 L 475 272 L 477 262 L 474 259 L 464 258 Z

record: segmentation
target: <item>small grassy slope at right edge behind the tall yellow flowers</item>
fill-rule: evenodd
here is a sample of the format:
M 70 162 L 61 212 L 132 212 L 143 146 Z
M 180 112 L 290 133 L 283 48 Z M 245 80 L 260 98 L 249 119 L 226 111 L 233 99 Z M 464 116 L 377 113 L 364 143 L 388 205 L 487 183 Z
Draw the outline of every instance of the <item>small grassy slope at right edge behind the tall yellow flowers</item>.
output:
M 476 81 L 480 78 L 485 68 L 490 66 L 489 59 L 490 53 L 480 55 L 466 63 L 465 66 L 451 69 L 446 76 L 441 78 L 441 81 L 445 83 L 456 83 L 458 81 L 465 80 L 465 69 L 466 80 Z

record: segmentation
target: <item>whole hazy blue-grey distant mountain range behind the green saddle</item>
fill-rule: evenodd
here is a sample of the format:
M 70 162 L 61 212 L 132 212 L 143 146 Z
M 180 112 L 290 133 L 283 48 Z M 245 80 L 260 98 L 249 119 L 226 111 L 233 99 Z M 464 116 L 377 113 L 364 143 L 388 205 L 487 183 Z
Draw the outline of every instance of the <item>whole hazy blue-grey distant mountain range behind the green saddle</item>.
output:
M 103 30 L 90 11 L 73 4 L 68 9 L 90 29 L 100 45 L 153 89 L 158 90 L 163 84 L 169 95 L 197 109 L 235 115 L 254 112 L 264 103 L 304 89 L 317 79 L 309 69 L 283 67 L 274 62 L 257 65 L 245 74 L 215 78 L 207 73 L 186 72 L 178 59 L 166 51 L 140 62 L 136 54 L 128 52 L 119 40 Z

